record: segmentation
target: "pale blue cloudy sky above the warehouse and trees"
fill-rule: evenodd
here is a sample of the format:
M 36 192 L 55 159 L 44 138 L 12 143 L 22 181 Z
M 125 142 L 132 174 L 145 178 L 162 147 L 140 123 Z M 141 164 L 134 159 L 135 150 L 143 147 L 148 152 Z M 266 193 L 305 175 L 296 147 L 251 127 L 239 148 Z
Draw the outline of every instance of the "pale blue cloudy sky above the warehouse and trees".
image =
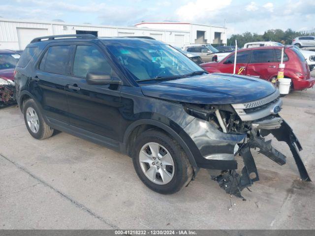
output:
M 315 0 L 0 0 L 0 17 L 114 26 L 225 22 L 230 36 L 267 29 L 314 30 Z

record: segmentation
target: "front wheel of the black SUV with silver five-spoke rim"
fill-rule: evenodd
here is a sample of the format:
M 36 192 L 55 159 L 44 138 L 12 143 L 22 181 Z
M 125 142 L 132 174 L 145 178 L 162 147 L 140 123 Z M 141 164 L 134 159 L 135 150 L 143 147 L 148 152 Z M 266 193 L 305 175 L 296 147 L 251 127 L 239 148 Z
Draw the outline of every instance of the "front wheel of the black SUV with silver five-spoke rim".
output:
M 144 131 L 138 136 L 132 161 L 141 181 L 161 194 L 178 192 L 189 183 L 193 175 L 182 147 L 158 129 Z

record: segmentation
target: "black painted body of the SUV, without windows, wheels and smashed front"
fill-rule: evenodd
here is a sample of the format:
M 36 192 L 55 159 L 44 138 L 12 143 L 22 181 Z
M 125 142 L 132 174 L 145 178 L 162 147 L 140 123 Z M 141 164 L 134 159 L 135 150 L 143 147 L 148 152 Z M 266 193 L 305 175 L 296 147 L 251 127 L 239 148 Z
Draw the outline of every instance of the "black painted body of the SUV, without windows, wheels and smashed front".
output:
M 148 81 L 140 85 L 106 48 L 106 45 L 120 43 L 135 47 L 145 43 L 161 44 L 137 38 L 58 39 L 31 43 L 28 47 L 38 47 L 38 52 L 26 67 L 16 67 L 20 107 L 23 108 L 25 99 L 33 98 L 52 128 L 127 154 L 132 151 L 130 137 L 135 129 L 140 125 L 158 127 L 179 142 L 194 169 L 237 169 L 234 146 L 242 143 L 247 135 L 220 132 L 213 124 L 186 113 L 183 102 L 248 102 L 268 96 L 275 91 L 274 87 L 258 79 L 227 74 L 193 76 L 174 82 Z M 40 59 L 52 45 L 71 45 L 67 75 L 39 70 Z M 97 47 L 122 84 L 88 85 L 84 78 L 73 76 L 76 45 Z M 80 89 L 71 89 L 73 87 Z

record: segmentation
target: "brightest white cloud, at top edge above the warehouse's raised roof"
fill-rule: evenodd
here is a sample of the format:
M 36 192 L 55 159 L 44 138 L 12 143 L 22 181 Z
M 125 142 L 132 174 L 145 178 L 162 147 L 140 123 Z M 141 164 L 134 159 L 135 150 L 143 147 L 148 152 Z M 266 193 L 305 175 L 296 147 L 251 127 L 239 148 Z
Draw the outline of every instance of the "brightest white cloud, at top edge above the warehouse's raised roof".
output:
M 231 4 L 232 0 L 211 1 L 195 0 L 180 6 L 175 14 L 182 21 L 198 21 L 205 19 L 209 15 L 216 15 L 220 9 Z

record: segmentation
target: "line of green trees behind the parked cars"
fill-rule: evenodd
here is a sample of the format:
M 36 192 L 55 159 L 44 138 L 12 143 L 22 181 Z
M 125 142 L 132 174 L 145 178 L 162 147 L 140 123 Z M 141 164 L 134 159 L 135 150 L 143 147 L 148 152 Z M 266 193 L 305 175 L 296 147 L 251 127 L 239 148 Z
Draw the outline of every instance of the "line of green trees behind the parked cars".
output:
M 226 45 L 235 45 L 235 40 L 237 40 L 238 47 L 243 47 L 244 44 L 248 42 L 257 41 L 274 41 L 283 44 L 291 44 L 292 39 L 295 37 L 308 35 L 315 35 L 315 29 L 310 31 L 293 31 L 292 29 L 283 31 L 282 29 L 269 29 L 265 31 L 264 34 L 251 32 L 232 34 L 231 37 L 227 39 Z

